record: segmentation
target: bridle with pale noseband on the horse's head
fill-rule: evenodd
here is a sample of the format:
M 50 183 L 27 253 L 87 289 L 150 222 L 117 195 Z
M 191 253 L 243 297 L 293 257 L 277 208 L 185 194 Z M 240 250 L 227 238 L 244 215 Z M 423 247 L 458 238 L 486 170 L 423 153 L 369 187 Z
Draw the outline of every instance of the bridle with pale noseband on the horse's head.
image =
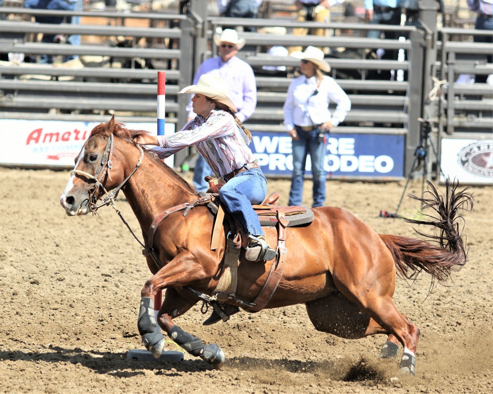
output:
M 116 197 L 118 196 L 118 192 L 120 189 L 125 185 L 125 183 L 130 179 L 132 175 L 134 175 L 135 171 L 141 166 L 142 164 L 142 159 L 144 157 L 144 151 L 141 148 L 140 145 L 136 144 L 135 146 L 139 148 L 139 151 L 141 151 L 141 157 L 139 158 L 139 161 L 137 162 L 134 170 L 131 172 L 129 176 L 127 176 L 122 183 L 120 183 L 116 188 L 114 188 L 110 193 L 105 189 L 101 181 L 106 175 L 106 172 L 108 173 L 108 178 L 111 180 L 111 175 L 110 175 L 110 170 L 111 167 L 113 167 L 113 162 L 111 161 L 111 157 L 113 156 L 113 143 L 114 143 L 114 137 L 113 133 L 110 134 L 108 137 L 108 141 L 106 142 L 106 148 L 105 148 L 105 153 L 103 154 L 103 157 L 101 158 L 101 163 L 98 166 L 98 169 L 96 170 L 96 173 L 94 175 L 91 175 L 87 172 L 73 169 L 70 171 L 70 175 L 72 174 L 77 174 L 77 175 L 83 175 L 87 179 L 90 180 L 95 180 L 96 183 L 90 190 L 90 194 L 88 197 L 89 200 L 89 210 L 93 213 L 96 214 L 96 211 L 101 208 L 102 206 L 105 205 L 111 205 L 113 209 L 115 209 L 117 212 L 119 212 L 115 208 L 115 202 L 116 202 Z M 107 160 L 106 160 L 107 158 Z M 105 198 L 101 198 L 101 202 L 98 204 L 98 197 L 96 197 L 96 194 L 99 192 L 99 189 L 102 188 L 103 191 L 106 194 Z

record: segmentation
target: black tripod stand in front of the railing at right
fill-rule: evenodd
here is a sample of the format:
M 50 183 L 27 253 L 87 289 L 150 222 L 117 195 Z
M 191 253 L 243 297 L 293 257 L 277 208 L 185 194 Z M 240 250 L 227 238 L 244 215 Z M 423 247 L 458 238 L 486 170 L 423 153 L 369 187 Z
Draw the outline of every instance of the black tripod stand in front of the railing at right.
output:
M 435 149 L 435 146 L 433 145 L 433 141 L 431 138 L 429 138 L 429 133 L 431 132 L 431 125 L 436 122 L 436 119 L 423 119 L 423 118 L 418 118 L 418 121 L 421 123 L 421 140 L 420 144 L 416 148 L 416 151 L 414 153 L 414 161 L 411 166 L 411 171 L 409 171 L 409 174 L 407 176 L 407 181 L 406 185 L 404 186 L 404 190 L 402 191 L 402 195 L 400 197 L 399 203 L 397 204 L 397 208 L 395 210 L 395 216 L 397 216 L 397 213 L 399 212 L 400 205 L 402 203 L 402 199 L 404 198 L 404 194 L 406 193 L 407 185 L 409 185 L 409 181 L 413 177 L 413 173 L 417 171 L 421 166 L 423 166 L 423 173 L 421 177 L 421 198 L 423 198 L 424 195 L 424 180 L 426 179 L 428 175 L 428 143 L 429 146 L 431 146 L 431 150 L 433 151 L 433 154 L 435 155 L 439 174 L 443 174 L 442 167 L 440 166 L 440 159 L 438 158 L 437 151 Z M 423 209 L 423 201 L 421 202 L 421 208 Z

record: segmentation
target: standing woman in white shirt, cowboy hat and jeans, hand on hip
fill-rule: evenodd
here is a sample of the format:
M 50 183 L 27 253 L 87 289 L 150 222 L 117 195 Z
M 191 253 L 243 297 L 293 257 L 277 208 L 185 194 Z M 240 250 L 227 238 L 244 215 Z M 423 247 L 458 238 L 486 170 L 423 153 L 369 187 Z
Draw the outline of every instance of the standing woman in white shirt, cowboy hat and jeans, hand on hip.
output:
M 304 52 L 291 56 L 301 59 L 301 75 L 293 79 L 284 103 L 284 124 L 292 138 L 293 174 L 288 205 L 301 205 L 303 176 L 307 154 L 312 160 L 313 205 L 323 206 L 325 201 L 325 171 L 323 163 L 326 152 L 326 135 L 332 127 L 346 118 L 351 101 L 336 81 L 324 76 L 330 71 L 323 52 L 309 46 Z M 337 107 L 333 114 L 329 102 Z

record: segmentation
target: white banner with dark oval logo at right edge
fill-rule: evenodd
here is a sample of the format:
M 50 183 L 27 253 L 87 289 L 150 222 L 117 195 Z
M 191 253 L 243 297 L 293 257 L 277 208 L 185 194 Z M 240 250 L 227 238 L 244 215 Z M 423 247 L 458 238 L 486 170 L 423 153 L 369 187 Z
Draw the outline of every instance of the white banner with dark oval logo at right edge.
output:
M 463 184 L 493 184 L 493 140 L 443 138 L 440 165 L 446 177 Z

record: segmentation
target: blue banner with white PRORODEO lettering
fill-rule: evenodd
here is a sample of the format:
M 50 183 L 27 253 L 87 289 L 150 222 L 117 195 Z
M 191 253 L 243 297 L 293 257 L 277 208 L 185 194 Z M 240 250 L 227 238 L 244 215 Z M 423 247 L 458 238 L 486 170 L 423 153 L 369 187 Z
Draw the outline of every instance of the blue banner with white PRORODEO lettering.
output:
M 333 176 L 404 176 L 405 136 L 391 134 L 329 134 L 324 169 Z M 291 175 L 291 137 L 252 132 L 249 145 L 264 174 Z M 311 174 L 310 156 L 306 173 Z

